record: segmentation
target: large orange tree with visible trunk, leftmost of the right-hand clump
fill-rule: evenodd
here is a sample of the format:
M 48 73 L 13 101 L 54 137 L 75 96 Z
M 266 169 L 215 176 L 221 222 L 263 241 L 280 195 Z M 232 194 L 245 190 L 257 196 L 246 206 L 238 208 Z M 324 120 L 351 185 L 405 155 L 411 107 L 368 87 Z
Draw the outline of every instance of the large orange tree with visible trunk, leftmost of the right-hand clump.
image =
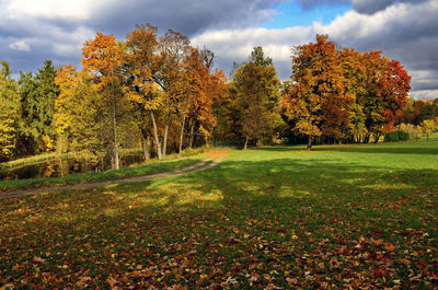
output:
M 308 150 L 322 135 L 341 139 L 348 130 L 354 94 L 345 90 L 341 59 L 327 36 L 316 35 L 316 43 L 295 48 L 292 88 L 283 105 L 296 132 L 308 136 Z

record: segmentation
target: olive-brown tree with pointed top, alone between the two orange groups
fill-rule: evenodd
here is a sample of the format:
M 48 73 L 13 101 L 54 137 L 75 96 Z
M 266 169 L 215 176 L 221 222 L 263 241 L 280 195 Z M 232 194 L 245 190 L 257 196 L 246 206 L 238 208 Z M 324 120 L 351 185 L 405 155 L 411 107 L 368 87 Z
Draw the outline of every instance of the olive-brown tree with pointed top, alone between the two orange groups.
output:
M 279 85 L 272 59 L 264 56 L 262 47 L 255 47 L 250 61 L 234 72 L 231 94 L 245 149 L 252 139 L 260 144 L 263 138 L 272 137 L 280 121 Z

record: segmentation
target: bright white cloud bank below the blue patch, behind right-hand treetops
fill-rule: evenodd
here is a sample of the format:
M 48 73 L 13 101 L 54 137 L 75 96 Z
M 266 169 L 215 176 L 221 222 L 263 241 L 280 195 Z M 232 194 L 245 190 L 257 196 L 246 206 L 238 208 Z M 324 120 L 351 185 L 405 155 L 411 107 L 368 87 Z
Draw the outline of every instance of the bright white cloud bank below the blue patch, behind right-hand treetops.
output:
M 233 61 L 245 61 L 252 47 L 261 45 L 274 59 L 283 80 L 291 72 L 290 48 L 314 39 L 315 34 L 328 34 L 341 47 L 361 51 L 382 50 L 397 59 L 412 74 L 412 95 L 438 97 L 438 3 L 395 3 L 374 14 L 349 11 L 328 25 L 283 30 L 244 28 L 210 31 L 196 36 L 193 43 L 207 45 L 217 53 L 218 66 L 228 71 Z M 229 39 L 233 39 L 230 42 Z M 417 94 L 418 93 L 418 94 Z

